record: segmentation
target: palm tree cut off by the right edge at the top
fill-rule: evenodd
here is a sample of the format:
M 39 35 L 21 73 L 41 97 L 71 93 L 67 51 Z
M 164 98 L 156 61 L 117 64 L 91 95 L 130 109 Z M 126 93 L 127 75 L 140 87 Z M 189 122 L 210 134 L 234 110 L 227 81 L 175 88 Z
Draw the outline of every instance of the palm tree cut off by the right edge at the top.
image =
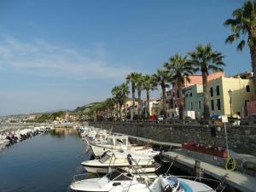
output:
M 241 51 L 246 42 L 250 49 L 253 84 L 256 87 L 256 2 L 247 1 L 240 9 L 233 11 L 233 18 L 224 21 L 224 26 L 231 26 L 231 34 L 226 38 L 225 43 L 232 44 L 234 41 L 242 38 L 236 49 Z M 246 35 L 247 34 L 247 35 Z M 245 40 L 245 38 L 247 38 Z M 256 89 L 255 94 L 256 94 Z

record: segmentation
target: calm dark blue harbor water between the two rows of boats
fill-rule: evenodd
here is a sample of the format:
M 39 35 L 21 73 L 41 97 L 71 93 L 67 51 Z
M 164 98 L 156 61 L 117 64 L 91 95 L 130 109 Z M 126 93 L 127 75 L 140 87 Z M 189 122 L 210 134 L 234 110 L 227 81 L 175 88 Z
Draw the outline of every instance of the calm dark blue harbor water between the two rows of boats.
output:
M 64 192 L 90 159 L 73 129 L 57 129 L 0 152 L 1 192 Z

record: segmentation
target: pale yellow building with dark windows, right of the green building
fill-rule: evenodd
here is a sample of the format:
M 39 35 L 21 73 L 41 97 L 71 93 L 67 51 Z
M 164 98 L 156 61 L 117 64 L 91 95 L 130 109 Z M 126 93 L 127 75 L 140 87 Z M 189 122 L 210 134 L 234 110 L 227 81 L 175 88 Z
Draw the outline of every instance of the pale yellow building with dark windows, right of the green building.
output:
M 241 118 L 244 118 L 247 116 L 247 102 L 255 100 L 253 93 L 253 79 L 241 79 L 240 77 L 213 79 L 208 82 L 210 114 L 228 116 L 239 114 Z

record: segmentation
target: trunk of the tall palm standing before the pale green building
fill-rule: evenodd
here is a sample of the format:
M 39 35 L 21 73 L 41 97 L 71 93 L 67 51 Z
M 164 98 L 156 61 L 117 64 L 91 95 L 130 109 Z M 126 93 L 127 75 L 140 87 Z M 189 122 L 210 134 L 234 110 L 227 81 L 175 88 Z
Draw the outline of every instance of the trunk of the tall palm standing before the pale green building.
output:
M 204 119 L 210 119 L 210 110 L 209 110 L 209 96 L 208 96 L 208 82 L 207 82 L 207 70 L 201 70 L 202 79 L 203 79 L 203 91 L 204 91 Z

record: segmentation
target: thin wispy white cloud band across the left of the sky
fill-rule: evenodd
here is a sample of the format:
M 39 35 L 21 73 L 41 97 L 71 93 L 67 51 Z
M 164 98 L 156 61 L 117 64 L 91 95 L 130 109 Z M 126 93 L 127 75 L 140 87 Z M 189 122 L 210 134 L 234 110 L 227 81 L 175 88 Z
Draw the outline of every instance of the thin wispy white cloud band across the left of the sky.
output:
M 18 73 L 70 79 L 116 79 L 131 72 L 127 67 L 113 67 L 104 46 L 96 46 L 92 52 L 95 54 L 62 48 L 42 39 L 24 43 L 12 37 L 0 38 L 0 66 Z

